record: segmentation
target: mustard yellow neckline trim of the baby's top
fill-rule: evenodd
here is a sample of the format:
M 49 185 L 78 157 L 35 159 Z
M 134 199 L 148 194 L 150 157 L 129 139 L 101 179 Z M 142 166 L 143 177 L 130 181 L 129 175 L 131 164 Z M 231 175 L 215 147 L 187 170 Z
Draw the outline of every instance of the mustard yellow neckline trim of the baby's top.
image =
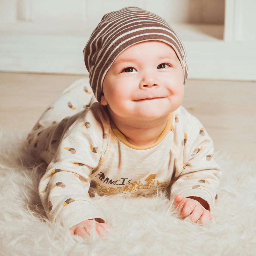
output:
M 111 125 L 111 129 L 113 131 L 113 133 L 115 134 L 115 136 L 117 136 L 118 139 L 120 139 L 121 142 L 123 142 L 126 146 L 128 146 L 129 148 L 133 148 L 133 149 L 137 149 L 137 150 L 145 150 L 145 149 L 150 149 L 150 148 L 154 148 L 156 145 L 158 145 L 164 138 L 165 136 L 169 133 L 169 131 L 171 130 L 171 126 L 173 123 L 173 113 L 170 113 L 167 119 L 167 123 L 166 126 L 164 127 L 164 130 L 162 131 L 162 133 L 160 134 L 160 136 L 157 138 L 157 140 L 151 144 L 151 145 L 147 145 L 147 146 L 136 146 L 131 144 L 126 137 L 123 135 L 123 133 L 120 132 L 120 130 L 117 128 L 117 126 L 114 124 L 113 120 L 111 118 L 109 118 L 110 120 L 110 125 Z

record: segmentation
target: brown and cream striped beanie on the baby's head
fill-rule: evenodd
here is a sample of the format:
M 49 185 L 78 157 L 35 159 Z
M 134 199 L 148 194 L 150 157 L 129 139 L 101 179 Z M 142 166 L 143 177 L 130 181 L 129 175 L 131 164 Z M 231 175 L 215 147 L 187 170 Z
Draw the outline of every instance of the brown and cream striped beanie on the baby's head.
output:
M 149 11 L 126 7 L 105 14 L 83 50 L 90 85 L 99 102 L 104 77 L 117 56 L 131 45 L 150 40 L 165 42 L 174 49 L 183 67 L 185 84 L 186 51 L 170 25 Z

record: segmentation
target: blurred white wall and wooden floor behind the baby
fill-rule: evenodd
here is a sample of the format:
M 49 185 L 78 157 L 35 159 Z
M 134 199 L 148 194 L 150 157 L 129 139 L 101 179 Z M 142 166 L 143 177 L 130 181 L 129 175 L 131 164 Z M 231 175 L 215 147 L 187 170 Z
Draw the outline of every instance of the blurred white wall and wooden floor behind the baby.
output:
M 255 166 L 255 0 L 0 0 L 0 128 L 28 132 L 62 90 L 88 76 L 92 30 L 126 6 L 170 23 L 188 56 L 183 106 L 217 151 Z

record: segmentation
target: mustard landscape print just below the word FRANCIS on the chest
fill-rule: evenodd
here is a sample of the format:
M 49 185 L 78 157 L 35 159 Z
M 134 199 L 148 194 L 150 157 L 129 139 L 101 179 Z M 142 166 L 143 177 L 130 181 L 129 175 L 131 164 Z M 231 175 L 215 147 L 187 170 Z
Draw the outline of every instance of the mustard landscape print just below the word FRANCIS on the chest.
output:
M 166 188 L 169 184 L 170 184 L 170 180 L 166 181 L 166 182 L 159 182 L 158 180 L 155 180 L 155 174 L 150 174 L 145 181 L 147 181 L 146 183 L 142 183 L 140 180 L 133 182 L 133 183 L 129 183 L 123 187 L 106 187 L 103 186 L 101 184 L 96 183 L 95 181 L 93 181 L 94 188 L 100 190 L 103 193 L 114 193 L 114 192 L 118 192 L 118 191 L 124 191 L 124 192 L 128 192 L 128 193 L 132 193 L 132 192 L 136 192 L 138 190 L 143 190 L 143 189 L 152 189 L 152 188 Z

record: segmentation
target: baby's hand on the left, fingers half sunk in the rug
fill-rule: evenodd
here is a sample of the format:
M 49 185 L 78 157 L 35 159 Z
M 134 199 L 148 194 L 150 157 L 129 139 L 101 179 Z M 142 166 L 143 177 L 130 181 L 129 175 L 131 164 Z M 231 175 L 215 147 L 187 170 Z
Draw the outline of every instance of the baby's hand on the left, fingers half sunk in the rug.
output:
M 101 219 L 96 219 L 100 221 Z M 99 223 L 96 220 L 85 220 L 69 229 L 70 235 L 77 235 L 87 238 L 92 233 L 92 227 L 95 223 L 95 234 L 98 237 L 105 237 L 108 233 L 107 229 L 111 227 L 107 223 Z

